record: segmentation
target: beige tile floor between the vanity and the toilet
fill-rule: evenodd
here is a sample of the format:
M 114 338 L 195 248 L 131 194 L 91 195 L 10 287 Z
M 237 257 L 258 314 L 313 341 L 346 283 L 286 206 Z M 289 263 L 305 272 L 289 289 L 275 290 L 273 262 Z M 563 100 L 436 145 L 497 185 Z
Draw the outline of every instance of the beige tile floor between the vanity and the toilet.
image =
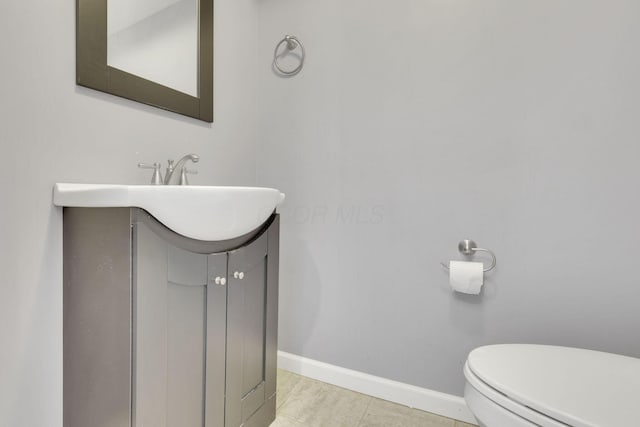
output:
M 276 408 L 271 427 L 472 427 L 280 369 Z

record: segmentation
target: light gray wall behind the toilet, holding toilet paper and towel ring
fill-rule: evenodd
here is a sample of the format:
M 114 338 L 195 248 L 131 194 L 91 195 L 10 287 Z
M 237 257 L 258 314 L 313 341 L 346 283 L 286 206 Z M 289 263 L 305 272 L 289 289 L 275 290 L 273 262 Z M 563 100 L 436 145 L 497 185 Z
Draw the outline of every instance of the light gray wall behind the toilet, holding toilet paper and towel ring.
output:
M 280 349 L 461 395 L 497 342 L 640 356 L 640 4 L 270 0 L 302 73 L 260 74 L 282 208 Z M 495 251 L 447 288 L 462 238 Z

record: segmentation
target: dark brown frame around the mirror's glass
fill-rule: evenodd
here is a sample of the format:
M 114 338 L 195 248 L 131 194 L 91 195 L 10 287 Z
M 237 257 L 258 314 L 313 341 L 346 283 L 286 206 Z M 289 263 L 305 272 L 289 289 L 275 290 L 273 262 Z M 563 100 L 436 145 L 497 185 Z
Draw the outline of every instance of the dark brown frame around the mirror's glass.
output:
M 76 0 L 76 83 L 213 122 L 213 0 L 198 3 L 199 97 L 107 65 L 107 0 Z

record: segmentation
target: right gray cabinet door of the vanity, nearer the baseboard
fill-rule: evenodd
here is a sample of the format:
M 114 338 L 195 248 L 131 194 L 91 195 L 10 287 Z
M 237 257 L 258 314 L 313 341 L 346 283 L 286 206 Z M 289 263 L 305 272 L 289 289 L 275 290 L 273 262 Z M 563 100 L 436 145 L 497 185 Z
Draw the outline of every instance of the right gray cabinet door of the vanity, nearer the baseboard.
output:
M 229 254 L 226 427 L 266 427 L 275 416 L 277 237 L 276 223 Z

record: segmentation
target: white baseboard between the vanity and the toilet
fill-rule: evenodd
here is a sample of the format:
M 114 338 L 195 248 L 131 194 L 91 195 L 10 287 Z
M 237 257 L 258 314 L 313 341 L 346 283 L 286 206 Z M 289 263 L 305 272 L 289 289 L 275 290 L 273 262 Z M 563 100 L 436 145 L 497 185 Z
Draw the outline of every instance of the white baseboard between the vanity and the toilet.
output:
M 352 371 L 284 351 L 278 351 L 278 368 L 443 417 L 476 423 L 462 397 Z

